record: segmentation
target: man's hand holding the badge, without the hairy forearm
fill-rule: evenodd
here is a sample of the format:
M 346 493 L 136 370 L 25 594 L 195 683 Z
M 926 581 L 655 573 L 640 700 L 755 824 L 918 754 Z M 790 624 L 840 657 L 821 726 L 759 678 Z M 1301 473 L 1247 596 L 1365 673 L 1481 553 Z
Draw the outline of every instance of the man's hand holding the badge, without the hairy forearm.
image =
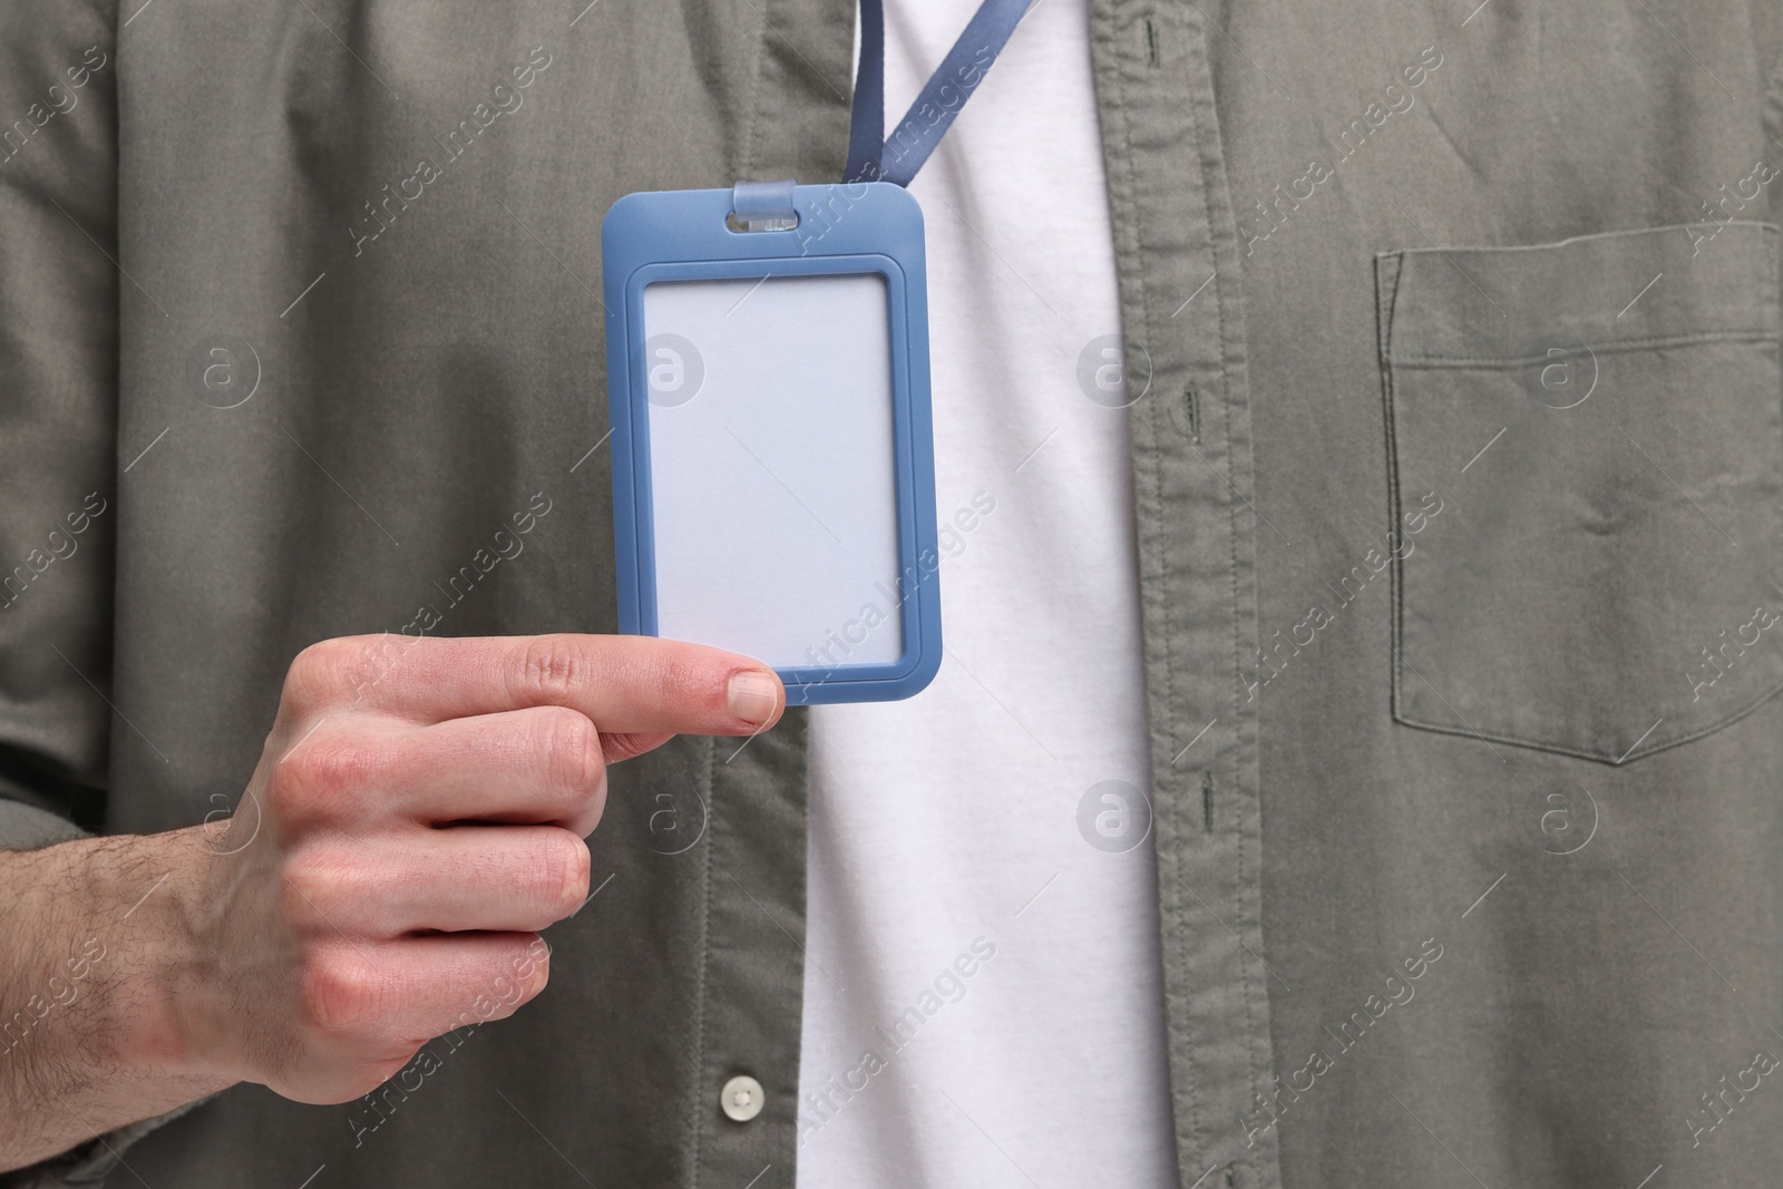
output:
M 248 790 L 267 841 L 226 865 L 246 907 L 218 916 L 219 952 L 246 973 L 205 1014 L 219 1064 L 342 1102 L 512 1014 L 544 986 L 537 931 L 587 902 L 606 763 L 754 734 L 785 704 L 760 661 L 647 636 L 305 649 Z

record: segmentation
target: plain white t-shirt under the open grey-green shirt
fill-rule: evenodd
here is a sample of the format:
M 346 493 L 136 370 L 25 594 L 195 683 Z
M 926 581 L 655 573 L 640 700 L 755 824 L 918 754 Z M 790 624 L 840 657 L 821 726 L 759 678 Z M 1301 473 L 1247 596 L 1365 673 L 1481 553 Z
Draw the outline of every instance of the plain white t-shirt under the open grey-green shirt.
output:
M 890 121 L 977 0 L 888 7 Z M 1175 1185 L 1148 818 L 1091 791 L 1148 767 L 1088 0 L 1029 12 L 911 193 L 947 651 L 813 709 L 799 1185 Z

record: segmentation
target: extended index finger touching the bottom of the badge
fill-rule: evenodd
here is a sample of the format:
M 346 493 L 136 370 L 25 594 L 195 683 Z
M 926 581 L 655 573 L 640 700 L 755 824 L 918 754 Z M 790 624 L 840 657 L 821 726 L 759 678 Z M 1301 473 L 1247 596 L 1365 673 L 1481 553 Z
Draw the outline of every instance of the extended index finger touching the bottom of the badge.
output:
M 292 661 L 312 679 L 423 724 L 569 706 L 601 733 L 752 734 L 786 706 L 761 661 L 656 636 L 344 636 Z

